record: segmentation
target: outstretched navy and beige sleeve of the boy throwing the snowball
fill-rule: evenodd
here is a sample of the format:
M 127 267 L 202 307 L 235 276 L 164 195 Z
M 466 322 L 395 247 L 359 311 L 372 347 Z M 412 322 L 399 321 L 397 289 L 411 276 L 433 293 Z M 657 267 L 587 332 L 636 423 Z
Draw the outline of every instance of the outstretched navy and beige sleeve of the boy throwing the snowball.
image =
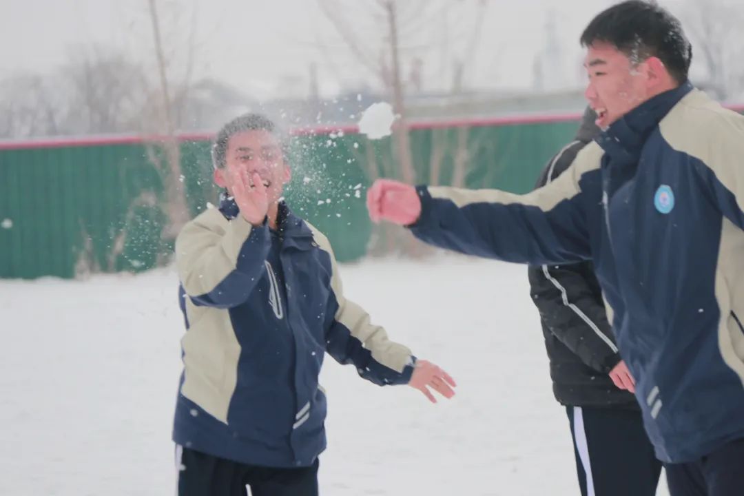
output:
M 591 257 L 580 187 L 601 149 L 586 146 L 574 164 L 526 195 L 500 190 L 417 187 L 421 215 L 411 231 L 429 244 L 479 257 L 542 265 Z

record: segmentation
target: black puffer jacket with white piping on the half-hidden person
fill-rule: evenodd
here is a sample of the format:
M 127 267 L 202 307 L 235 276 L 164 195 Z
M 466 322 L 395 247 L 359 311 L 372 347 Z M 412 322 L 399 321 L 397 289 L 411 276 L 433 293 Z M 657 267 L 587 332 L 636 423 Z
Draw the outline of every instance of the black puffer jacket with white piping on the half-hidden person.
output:
M 548 162 L 536 187 L 568 169 L 577 153 L 599 134 L 595 118 L 587 109 L 576 140 Z M 530 294 L 542 320 L 556 399 L 562 405 L 638 409 L 635 396 L 615 387 L 608 375 L 620 355 L 591 262 L 530 267 L 528 275 Z

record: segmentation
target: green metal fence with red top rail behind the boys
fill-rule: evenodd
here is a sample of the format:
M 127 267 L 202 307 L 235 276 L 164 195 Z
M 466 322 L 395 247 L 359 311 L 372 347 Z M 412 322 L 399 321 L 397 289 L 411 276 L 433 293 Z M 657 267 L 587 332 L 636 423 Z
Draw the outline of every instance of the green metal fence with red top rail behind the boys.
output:
M 416 179 L 525 193 L 577 126 L 574 116 L 540 121 L 414 126 Z M 181 163 L 195 216 L 217 190 L 208 137 L 192 138 L 182 141 Z M 290 207 L 327 234 L 339 260 L 363 257 L 373 230 L 365 190 L 374 177 L 397 175 L 393 140 L 303 132 L 293 145 Z M 142 271 L 164 261 L 172 246 L 161 234 L 157 155 L 137 138 L 0 144 L 0 278 Z

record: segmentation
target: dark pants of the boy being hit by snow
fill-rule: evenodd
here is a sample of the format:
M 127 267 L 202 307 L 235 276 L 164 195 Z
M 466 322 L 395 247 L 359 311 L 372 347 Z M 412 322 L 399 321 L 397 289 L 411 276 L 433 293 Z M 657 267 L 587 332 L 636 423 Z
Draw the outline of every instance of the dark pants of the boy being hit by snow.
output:
M 260 467 L 176 446 L 176 465 L 178 496 L 318 496 L 318 460 L 310 467 Z

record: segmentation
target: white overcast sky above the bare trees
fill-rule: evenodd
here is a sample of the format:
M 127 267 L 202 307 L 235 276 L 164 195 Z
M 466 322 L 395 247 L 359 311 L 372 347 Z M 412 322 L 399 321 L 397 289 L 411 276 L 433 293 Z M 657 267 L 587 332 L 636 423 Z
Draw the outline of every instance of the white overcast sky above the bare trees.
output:
M 184 65 L 188 40 L 193 39 L 196 78 L 211 75 L 260 98 L 307 91 L 312 63 L 318 66 L 325 94 L 374 80 L 355 62 L 318 0 L 158 2 L 173 66 Z M 675 13 L 682 10 L 682 2 L 661 1 Z M 362 48 L 379 54 L 387 28 L 370 7 L 376 0 L 330 3 L 339 6 Z M 548 78 L 554 75 L 575 86 L 581 81 L 580 32 L 612 3 L 487 0 L 480 42 L 469 51 L 478 0 L 399 0 L 403 70 L 408 71 L 413 57 L 420 57 L 424 87 L 446 88 L 452 59 L 469 51 L 466 86 L 529 88 L 534 57 L 550 43 L 545 26 L 552 18 L 560 57 Z M 122 50 L 154 68 L 152 46 L 147 0 L 0 0 L 0 77 L 23 71 L 51 74 L 75 51 L 91 49 Z

